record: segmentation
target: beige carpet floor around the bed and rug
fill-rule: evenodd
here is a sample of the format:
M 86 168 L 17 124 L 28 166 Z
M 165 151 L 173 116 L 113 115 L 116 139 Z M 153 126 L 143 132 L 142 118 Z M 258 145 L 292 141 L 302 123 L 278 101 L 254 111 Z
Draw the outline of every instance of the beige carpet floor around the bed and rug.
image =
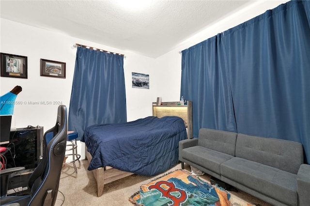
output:
M 78 166 L 78 162 L 77 162 Z M 128 199 L 139 191 L 142 184 L 146 184 L 156 177 L 161 177 L 167 172 L 181 169 L 181 164 L 175 165 L 167 172 L 153 177 L 132 175 L 116 180 L 104 186 L 103 195 L 97 197 L 97 186 L 92 171 L 87 170 L 88 161 L 81 161 L 78 169 L 78 178 L 75 178 L 73 163 L 66 164 L 62 168 L 59 192 L 55 206 L 133 206 Z M 185 164 L 185 169 L 190 171 L 190 166 Z M 210 176 L 202 175 L 202 179 L 210 182 Z M 240 198 L 257 206 L 271 206 L 243 191 L 229 191 L 235 198 Z

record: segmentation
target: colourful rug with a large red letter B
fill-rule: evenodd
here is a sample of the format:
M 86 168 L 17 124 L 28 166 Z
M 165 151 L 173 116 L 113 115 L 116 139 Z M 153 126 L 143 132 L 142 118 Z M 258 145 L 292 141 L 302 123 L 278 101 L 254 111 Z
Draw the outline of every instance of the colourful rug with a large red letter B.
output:
M 186 170 L 176 170 L 142 185 L 129 201 L 136 206 L 252 206 L 234 202 L 236 198 L 227 191 Z

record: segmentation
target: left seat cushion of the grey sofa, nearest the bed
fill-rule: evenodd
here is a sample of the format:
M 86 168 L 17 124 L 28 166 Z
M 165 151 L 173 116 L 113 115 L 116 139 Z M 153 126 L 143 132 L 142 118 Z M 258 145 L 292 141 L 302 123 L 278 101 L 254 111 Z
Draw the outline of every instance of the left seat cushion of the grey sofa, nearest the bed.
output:
M 209 148 L 194 146 L 187 147 L 181 151 L 182 157 L 190 162 L 194 162 L 220 176 L 220 164 L 233 158 L 228 155 Z

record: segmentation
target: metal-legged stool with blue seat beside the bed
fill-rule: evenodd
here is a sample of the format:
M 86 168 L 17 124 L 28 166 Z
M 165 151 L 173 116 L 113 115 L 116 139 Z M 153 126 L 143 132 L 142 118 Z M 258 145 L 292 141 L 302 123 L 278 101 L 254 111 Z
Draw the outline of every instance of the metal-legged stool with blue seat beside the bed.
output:
M 78 161 L 78 169 L 81 168 L 81 162 L 79 161 L 81 156 L 78 154 L 77 138 L 78 138 L 78 132 L 68 131 L 65 157 L 72 156 L 72 159 L 69 160 L 68 162 L 63 163 L 63 164 L 73 163 L 74 170 L 76 173 L 76 178 L 78 178 L 78 170 L 76 166 L 76 161 Z M 68 142 L 70 142 L 71 144 L 68 144 Z M 72 151 L 72 153 L 68 153 L 67 151 Z

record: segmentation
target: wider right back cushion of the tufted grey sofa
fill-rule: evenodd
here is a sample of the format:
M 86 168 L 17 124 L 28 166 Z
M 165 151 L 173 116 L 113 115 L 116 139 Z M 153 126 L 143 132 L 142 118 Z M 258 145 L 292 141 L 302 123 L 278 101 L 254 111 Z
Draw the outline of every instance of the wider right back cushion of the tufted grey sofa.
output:
M 297 174 L 303 163 L 303 147 L 298 142 L 238 133 L 236 157 Z

